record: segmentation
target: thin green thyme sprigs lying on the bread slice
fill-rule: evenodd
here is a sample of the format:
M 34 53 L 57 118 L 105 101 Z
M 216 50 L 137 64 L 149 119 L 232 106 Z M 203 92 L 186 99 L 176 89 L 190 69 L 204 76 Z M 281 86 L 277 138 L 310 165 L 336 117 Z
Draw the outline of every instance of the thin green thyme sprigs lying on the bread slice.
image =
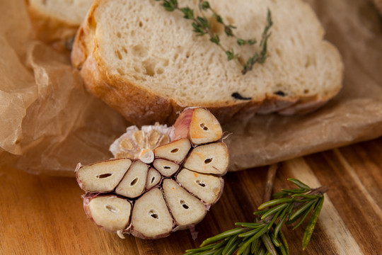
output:
M 183 18 L 191 20 L 192 21 L 192 28 L 193 31 L 197 34 L 197 36 L 203 36 L 208 35 L 209 40 L 219 46 L 221 50 L 224 51 L 224 53 L 227 56 L 227 60 L 231 61 L 234 60 L 236 64 L 241 68 L 241 73 L 246 74 L 250 70 L 253 69 L 253 65 L 256 63 L 262 64 L 267 59 L 267 40 L 270 38 L 270 28 L 272 27 L 272 16 L 271 12 L 268 9 L 267 10 L 267 25 L 265 26 L 264 30 L 262 31 L 262 37 L 260 40 L 260 52 L 255 52 L 252 57 L 249 57 L 248 60 L 242 62 L 240 55 L 238 53 L 234 52 L 233 47 L 231 49 L 226 48 L 224 45 L 221 44 L 221 38 L 217 33 L 214 33 L 211 29 L 211 21 L 204 15 L 205 12 L 211 11 L 212 12 L 212 18 L 216 20 L 217 23 L 220 23 L 221 26 L 224 26 L 224 33 L 228 37 L 232 37 L 236 39 L 237 45 L 255 45 L 257 40 L 255 39 L 243 39 L 239 38 L 235 33 L 233 33 L 233 30 L 236 29 L 235 26 L 226 23 L 221 16 L 216 13 L 214 8 L 209 4 L 208 1 L 199 0 L 199 13 L 201 13 L 201 16 L 195 16 L 194 9 L 186 6 L 186 7 L 180 7 L 178 5 L 178 0 L 156 0 L 156 1 L 162 1 L 162 6 L 166 9 L 166 11 L 181 11 L 183 13 Z

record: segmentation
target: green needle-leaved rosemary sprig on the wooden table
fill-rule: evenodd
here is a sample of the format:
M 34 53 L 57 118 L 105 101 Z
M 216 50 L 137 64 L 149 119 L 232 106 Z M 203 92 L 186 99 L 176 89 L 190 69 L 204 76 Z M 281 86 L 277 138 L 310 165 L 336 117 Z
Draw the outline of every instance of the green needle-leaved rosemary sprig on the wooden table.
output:
M 228 230 L 210 237 L 197 249 L 189 249 L 191 254 L 289 254 L 289 246 L 284 234 L 280 231 L 282 225 L 299 221 L 296 227 L 306 219 L 313 210 L 311 220 L 303 235 L 302 249 L 308 246 L 313 229 L 323 207 L 323 193 L 328 187 L 311 188 L 297 179 L 288 179 L 297 186 L 293 189 L 282 189 L 274 194 L 274 200 L 262 203 L 254 222 L 236 222 L 235 229 Z

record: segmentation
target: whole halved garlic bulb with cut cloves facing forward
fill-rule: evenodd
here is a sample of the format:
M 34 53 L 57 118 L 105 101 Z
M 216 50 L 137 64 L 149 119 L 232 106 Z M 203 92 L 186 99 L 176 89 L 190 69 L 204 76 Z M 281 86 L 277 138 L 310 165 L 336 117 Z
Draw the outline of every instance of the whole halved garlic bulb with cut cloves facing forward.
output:
M 220 176 L 227 171 L 228 149 L 219 142 L 221 135 L 216 118 L 200 108 L 185 109 L 170 128 L 127 128 L 110 151 L 132 160 L 110 159 L 76 169 L 86 191 L 86 214 L 121 238 L 156 239 L 197 224 L 224 186 Z

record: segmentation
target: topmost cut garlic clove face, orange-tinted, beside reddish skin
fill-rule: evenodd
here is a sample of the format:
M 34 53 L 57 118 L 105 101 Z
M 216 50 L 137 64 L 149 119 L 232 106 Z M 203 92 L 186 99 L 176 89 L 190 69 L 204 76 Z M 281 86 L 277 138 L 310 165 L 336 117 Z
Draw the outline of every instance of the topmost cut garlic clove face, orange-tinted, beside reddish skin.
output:
M 212 113 L 196 108 L 192 114 L 189 137 L 193 145 L 216 142 L 223 135 L 221 125 Z

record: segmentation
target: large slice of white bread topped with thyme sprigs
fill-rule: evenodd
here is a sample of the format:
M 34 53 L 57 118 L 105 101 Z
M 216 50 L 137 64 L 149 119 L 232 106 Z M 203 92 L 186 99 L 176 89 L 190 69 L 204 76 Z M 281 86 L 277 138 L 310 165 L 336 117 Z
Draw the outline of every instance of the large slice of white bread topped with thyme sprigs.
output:
M 197 1 L 179 0 L 197 13 Z M 254 113 L 304 113 L 340 91 L 339 52 L 301 0 L 212 0 L 235 33 L 260 40 L 272 12 L 269 57 L 241 74 L 235 62 L 192 32 L 180 11 L 154 0 L 96 0 L 76 35 L 71 60 L 86 88 L 137 125 L 172 123 L 186 106 L 209 108 L 220 121 Z M 212 16 L 212 15 L 211 15 Z M 260 47 L 238 47 L 219 26 L 221 43 L 245 60 Z M 233 97 L 238 93 L 250 100 Z

